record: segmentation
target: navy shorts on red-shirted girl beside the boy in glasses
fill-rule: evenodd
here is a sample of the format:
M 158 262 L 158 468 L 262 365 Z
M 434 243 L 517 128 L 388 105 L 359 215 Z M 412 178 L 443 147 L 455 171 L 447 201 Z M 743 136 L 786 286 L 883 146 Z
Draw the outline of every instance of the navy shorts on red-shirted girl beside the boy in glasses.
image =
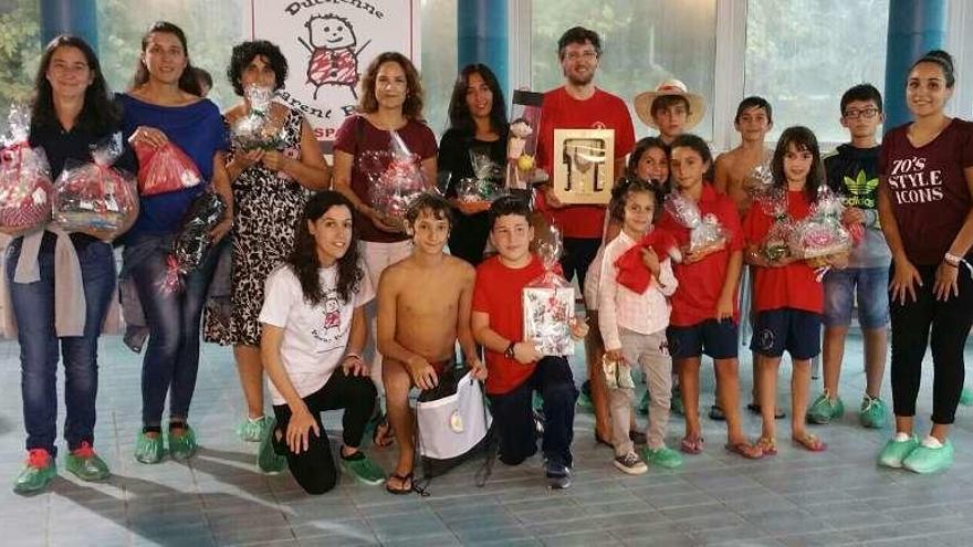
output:
M 767 309 L 756 316 L 750 349 L 766 357 L 813 359 L 820 354 L 820 315 L 789 307 Z

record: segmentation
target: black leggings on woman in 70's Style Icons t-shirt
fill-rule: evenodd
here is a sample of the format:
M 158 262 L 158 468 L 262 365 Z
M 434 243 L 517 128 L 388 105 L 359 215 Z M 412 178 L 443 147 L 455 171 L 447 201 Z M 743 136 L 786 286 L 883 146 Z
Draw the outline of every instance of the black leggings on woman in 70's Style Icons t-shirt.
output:
M 906 305 L 891 301 L 892 318 L 892 403 L 896 415 L 916 415 L 916 397 L 922 378 L 925 348 L 932 349 L 932 422 L 953 423 L 963 390 L 963 349 L 973 325 L 973 280 L 960 266 L 960 296 L 938 302 L 933 294 L 937 266 L 916 266 L 922 286 L 916 287 L 917 302 L 907 296 Z M 894 276 L 894 265 L 889 278 Z

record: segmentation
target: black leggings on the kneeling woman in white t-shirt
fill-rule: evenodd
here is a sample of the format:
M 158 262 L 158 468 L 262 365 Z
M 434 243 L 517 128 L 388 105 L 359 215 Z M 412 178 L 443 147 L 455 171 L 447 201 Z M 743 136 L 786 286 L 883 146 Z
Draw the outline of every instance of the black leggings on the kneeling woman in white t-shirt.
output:
M 367 376 L 346 376 L 342 368 L 334 371 L 327 383 L 317 391 L 304 398 L 307 410 L 321 429 L 321 436 L 311 432 L 307 450 L 295 454 L 286 444 L 283 433 L 287 431 L 291 421 L 291 408 L 286 404 L 274 404 L 274 415 L 278 419 L 274 439 L 274 450 L 278 454 L 287 457 L 287 466 L 297 484 L 308 494 L 324 494 L 334 488 L 337 482 L 337 467 L 331 453 L 327 433 L 321 423 L 321 413 L 325 410 L 345 409 L 342 417 L 342 436 L 345 446 L 357 448 L 362 444 L 362 435 L 365 433 L 365 424 L 375 409 L 377 392 L 375 383 Z M 280 431 L 282 436 L 276 438 Z

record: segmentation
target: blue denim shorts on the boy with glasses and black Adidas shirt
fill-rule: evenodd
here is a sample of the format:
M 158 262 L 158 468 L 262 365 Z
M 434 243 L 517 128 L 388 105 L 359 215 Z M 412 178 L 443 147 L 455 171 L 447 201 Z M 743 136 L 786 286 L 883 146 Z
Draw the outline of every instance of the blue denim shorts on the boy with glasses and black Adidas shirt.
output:
M 889 324 L 889 269 L 849 267 L 825 275 L 826 327 L 847 327 L 851 308 L 858 303 L 861 328 L 882 328 Z

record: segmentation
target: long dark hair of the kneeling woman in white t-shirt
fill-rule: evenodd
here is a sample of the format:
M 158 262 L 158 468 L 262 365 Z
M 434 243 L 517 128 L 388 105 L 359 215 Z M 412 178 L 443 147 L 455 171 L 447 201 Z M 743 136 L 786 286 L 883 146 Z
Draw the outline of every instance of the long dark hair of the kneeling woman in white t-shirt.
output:
M 294 249 L 287 256 L 287 264 L 301 282 L 301 292 L 304 299 L 311 305 L 321 304 L 324 301 L 324 291 L 321 287 L 321 261 L 317 259 L 317 242 L 307 229 L 308 222 L 322 218 L 333 207 L 347 207 L 354 211 L 352 202 L 338 192 L 325 190 L 316 193 L 304 207 L 304 214 L 297 221 L 294 233 Z M 338 282 L 337 292 L 342 302 L 348 303 L 354 293 L 362 286 L 365 271 L 358 259 L 358 228 L 352 224 L 352 239 L 348 241 L 348 251 L 337 261 Z

